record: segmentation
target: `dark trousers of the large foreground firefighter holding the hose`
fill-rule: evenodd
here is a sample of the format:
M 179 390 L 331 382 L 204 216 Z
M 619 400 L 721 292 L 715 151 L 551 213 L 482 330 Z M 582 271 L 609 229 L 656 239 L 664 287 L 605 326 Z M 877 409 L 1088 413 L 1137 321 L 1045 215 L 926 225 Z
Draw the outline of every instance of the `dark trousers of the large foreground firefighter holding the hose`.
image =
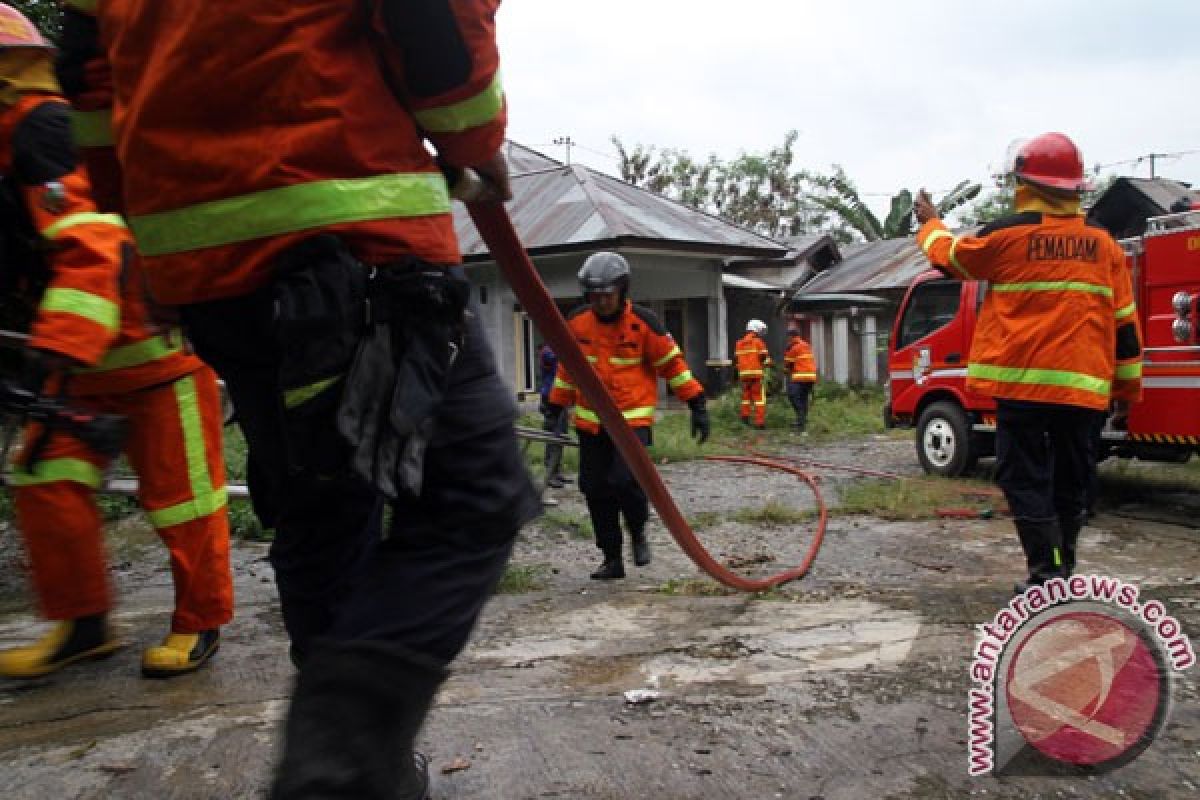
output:
M 540 511 L 512 431 L 516 404 L 478 313 L 437 415 L 422 493 L 394 504 L 385 535 L 383 501 L 370 485 L 288 465 L 270 288 L 182 313 L 246 435 L 254 510 L 275 529 L 270 561 L 294 657 L 319 637 L 383 640 L 449 663 L 502 577 L 518 528 Z

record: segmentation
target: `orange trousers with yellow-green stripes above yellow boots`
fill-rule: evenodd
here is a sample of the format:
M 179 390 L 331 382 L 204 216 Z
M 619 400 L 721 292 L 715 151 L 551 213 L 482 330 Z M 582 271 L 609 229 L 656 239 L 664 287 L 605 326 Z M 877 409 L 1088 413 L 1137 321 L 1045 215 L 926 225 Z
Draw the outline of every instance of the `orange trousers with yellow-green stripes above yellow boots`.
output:
M 233 576 L 214 372 L 203 367 L 149 389 L 71 402 L 128 419 L 125 456 L 138 476 L 138 500 L 170 554 L 172 631 L 197 633 L 228 622 Z M 40 433 L 38 426 L 25 432 L 26 450 Z M 104 457 L 62 432 L 50 433 L 31 471 L 24 457 L 13 470 L 13 493 L 42 614 L 61 620 L 110 610 L 103 521 L 96 507 Z

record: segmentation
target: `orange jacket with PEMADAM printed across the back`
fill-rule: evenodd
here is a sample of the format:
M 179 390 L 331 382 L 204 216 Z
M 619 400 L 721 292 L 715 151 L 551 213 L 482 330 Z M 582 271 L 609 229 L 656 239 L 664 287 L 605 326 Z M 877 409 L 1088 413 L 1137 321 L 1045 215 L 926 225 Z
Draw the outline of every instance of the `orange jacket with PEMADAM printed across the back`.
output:
M 988 281 L 967 389 L 1097 410 L 1141 396 L 1136 306 L 1121 246 L 1079 215 L 1022 211 L 956 236 L 917 234 L 947 275 Z

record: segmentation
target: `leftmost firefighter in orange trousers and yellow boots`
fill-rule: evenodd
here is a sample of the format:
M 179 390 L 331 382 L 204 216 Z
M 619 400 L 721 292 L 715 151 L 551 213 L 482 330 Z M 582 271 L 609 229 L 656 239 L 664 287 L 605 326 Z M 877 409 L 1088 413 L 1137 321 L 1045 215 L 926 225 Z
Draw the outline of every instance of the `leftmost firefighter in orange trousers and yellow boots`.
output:
M 0 172 L 38 231 L 46 289 L 29 339 L 31 392 L 64 391 L 72 407 L 124 415 L 125 456 L 139 501 L 170 554 L 170 631 L 145 650 L 142 672 L 169 678 L 204 664 L 233 616 L 229 527 L 216 378 L 146 325 L 140 275 L 120 216 L 101 213 L 71 142 L 49 44 L 0 5 Z M 35 234 L 36 235 L 36 234 Z M 6 265 L 8 269 L 12 264 Z M 11 276 L 8 276 L 11 277 Z M 109 612 L 96 489 L 109 456 L 59 427 L 31 426 L 12 476 L 17 523 L 42 614 L 54 621 L 29 646 L 0 652 L 0 674 L 36 678 L 120 646 Z

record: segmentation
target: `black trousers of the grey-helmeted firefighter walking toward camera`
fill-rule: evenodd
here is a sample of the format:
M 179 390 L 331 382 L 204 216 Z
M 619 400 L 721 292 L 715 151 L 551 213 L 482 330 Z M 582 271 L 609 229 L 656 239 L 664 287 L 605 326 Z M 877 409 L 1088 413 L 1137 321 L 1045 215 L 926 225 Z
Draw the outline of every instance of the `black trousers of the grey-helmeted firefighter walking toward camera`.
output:
M 634 428 L 643 445 L 652 440 L 650 428 Z M 605 558 L 619 558 L 622 551 L 620 517 L 625 517 L 629 533 L 641 536 L 650 509 L 646 492 L 629 471 L 625 459 L 617 452 L 608 433 L 580 434 L 580 491 L 592 515 L 596 547 Z

